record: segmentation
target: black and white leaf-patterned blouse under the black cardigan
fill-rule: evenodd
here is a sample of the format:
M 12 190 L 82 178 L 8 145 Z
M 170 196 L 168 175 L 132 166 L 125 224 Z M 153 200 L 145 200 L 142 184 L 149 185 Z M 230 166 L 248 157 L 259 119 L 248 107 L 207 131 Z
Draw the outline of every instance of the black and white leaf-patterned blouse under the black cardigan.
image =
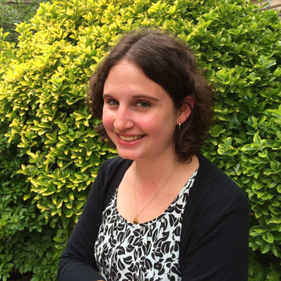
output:
M 96 263 L 107 281 L 180 281 L 183 211 L 197 170 L 164 213 L 134 225 L 117 210 L 117 190 L 103 211 L 95 244 Z

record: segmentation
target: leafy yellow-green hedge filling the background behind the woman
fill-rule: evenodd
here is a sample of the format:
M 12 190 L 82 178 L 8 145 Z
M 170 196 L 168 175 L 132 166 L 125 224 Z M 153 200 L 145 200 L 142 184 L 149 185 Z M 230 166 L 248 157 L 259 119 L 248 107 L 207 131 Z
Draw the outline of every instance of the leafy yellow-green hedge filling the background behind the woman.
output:
M 281 24 L 242 0 L 62 0 L 0 39 L 0 277 L 56 266 L 100 163 L 85 104 L 96 64 L 124 32 L 161 27 L 195 51 L 216 91 L 204 155 L 249 195 L 250 281 L 280 280 Z

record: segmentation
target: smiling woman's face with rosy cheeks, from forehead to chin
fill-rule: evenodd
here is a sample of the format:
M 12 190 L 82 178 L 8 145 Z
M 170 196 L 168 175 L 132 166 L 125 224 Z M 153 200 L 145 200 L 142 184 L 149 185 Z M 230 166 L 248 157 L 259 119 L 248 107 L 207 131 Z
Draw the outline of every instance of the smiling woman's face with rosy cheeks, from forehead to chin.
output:
M 155 159 L 174 154 L 178 110 L 159 84 L 136 63 L 120 60 L 103 88 L 103 126 L 125 159 Z

